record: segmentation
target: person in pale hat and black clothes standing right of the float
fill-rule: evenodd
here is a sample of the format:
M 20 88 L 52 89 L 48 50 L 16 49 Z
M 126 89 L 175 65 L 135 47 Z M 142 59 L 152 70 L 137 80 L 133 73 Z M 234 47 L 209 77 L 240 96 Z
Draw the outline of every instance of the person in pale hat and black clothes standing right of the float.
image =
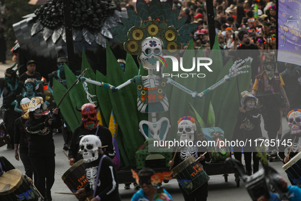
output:
M 254 142 L 255 139 L 262 137 L 260 128 L 260 109 L 256 108 L 256 100 L 250 92 L 241 92 L 241 107 L 239 107 L 239 112 L 237 114 L 237 122 L 234 129 L 233 141 L 245 141 L 251 139 Z M 236 160 L 241 162 L 241 147 L 234 146 L 234 157 Z M 243 147 L 243 155 L 245 162 L 245 169 L 248 175 L 252 175 L 252 152 L 253 152 L 253 173 L 257 172 L 259 169 L 259 158 L 256 156 L 257 151 L 255 150 L 254 143 L 252 146 L 246 145 Z

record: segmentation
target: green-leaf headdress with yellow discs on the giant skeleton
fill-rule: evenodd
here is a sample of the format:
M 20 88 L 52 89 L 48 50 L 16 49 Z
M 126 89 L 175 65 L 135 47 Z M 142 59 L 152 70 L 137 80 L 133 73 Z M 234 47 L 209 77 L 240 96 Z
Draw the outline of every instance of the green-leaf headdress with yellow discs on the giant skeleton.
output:
M 172 8 L 172 0 L 163 4 L 160 0 L 152 0 L 150 6 L 144 0 L 138 0 L 137 13 L 127 7 L 128 19 L 121 18 L 123 26 L 112 27 L 109 30 L 114 36 L 114 41 L 123 43 L 125 51 L 131 55 L 140 55 L 141 43 L 148 37 L 160 39 L 163 49 L 174 53 L 180 49 L 181 42 L 187 42 L 192 38 L 189 34 L 197 29 L 199 23 L 184 25 L 186 17 L 177 19 L 181 7 L 173 12 Z M 148 20 L 149 16 L 153 20 Z

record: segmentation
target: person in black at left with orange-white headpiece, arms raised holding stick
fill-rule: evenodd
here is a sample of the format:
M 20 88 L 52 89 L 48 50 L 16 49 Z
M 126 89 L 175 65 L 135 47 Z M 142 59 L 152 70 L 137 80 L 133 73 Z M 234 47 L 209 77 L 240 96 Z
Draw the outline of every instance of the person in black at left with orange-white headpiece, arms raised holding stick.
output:
M 49 201 L 52 200 L 50 190 L 54 183 L 56 167 L 52 132 L 53 129 L 61 127 L 62 121 L 58 108 L 53 110 L 53 115 L 50 117 L 43 115 L 45 109 L 46 105 L 42 97 L 31 99 L 29 109 L 26 112 L 30 119 L 25 122 L 25 131 L 29 134 L 30 160 L 37 173 L 36 187 L 41 195 Z

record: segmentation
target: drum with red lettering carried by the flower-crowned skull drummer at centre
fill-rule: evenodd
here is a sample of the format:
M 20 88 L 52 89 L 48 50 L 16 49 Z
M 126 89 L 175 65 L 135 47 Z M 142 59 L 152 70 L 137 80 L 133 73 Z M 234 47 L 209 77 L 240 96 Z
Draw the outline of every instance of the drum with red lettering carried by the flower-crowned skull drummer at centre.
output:
M 195 157 L 190 156 L 172 169 L 174 177 L 187 194 L 190 194 L 209 181 L 209 176 Z

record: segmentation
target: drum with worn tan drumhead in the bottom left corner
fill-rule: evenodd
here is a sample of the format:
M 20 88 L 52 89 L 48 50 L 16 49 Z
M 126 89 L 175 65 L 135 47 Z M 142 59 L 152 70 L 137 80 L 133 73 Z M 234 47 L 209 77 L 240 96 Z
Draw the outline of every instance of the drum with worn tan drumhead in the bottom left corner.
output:
M 0 177 L 0 200 L 38 200 L 36 189 L 29 184 L 20 170 L 12 169 Z

